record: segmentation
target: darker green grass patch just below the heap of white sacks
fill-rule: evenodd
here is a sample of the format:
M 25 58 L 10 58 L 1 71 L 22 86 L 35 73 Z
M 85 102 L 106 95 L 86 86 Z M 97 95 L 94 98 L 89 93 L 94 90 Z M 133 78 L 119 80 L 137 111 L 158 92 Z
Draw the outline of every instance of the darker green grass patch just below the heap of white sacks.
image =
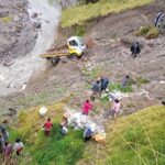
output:
M 41 142 L 44 144 L 41 144 Z M 33 163 L 40 165 L 74 165 L 81 158 L 82 148 L 84 141 L 81 131 L 69 130 L 69 134 L 63 136 L 59 133 L 58 123 L 56 123 L 52 138 L 45 140 L 42 133 L 40 142 L 34 145 L 32 151 Z

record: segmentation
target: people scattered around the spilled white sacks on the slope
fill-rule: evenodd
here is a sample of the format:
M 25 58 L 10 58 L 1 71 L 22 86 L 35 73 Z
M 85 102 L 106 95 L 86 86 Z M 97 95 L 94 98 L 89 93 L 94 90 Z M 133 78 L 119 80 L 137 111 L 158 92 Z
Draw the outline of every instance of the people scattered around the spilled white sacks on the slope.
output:
M 123 86 L 127 85 L 129 79 L 129 76 L 125 77 L 125 79 L 123 79 Z M 107 76 L 102 76 L 101 78 L 98 78 L 91 86 L 91 91 L 92 95 L 90 97 L 90 99 L 87 99 L 81 107 L 81 112 L 85 116 L 88 116 L 90 110 L 94 109 L 94 101 L 96 98 L 100 98 L 101 94 L 105 91 L 107 92 L 108 90 L 108 86 L 109 86 L 109 79 Z M 112 119 L 114 119 L 117 117 L 117 114 L 120 112 L 120 101 L 118 99 L 113 100 L 113 103 L 111 106 L 111 109 L 109 110 L 110 113 L 112 116 Z M 53 128 L 53 123 L 51 122 L 51 118 L 47 119 L 47 121 L 44 123 L 43 129 L 45 132 L 45 136 L 50 135 L 50 132 Z M 62 134 L 66 135 L 68 132 L 68 128 L 67 128 L 67 123 L 62 125 L 61 129 Z M 86 128 L 84 131 L 84 141 L 88 141 L 92 138 L 94 132 L 91 130 L 91 128 Z

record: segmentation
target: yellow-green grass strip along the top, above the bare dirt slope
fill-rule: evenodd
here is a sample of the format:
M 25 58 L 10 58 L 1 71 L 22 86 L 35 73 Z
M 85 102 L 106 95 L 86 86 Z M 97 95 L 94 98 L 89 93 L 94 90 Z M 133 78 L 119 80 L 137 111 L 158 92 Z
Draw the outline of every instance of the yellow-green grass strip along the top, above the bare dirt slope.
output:
M 87 21 L 107 15 L 111 12 L 119 13 L 127 9 L 141 7 L 152 2 L 153 0 L 100 0 L 96 3 L 86 6 L 77 6 L 65 9 L 62 12 L 62 28 L 84 24 Z

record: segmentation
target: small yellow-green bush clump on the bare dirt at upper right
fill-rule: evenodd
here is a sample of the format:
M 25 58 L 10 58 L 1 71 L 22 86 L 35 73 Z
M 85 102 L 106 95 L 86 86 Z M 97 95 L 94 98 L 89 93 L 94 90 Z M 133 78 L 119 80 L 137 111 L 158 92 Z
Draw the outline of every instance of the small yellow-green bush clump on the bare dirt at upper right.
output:
M 155 38 L 158 36 L 158 29 L 151 25 L 143 25 L 135 32 L 138 36 L 144 36 L 145 38 Z

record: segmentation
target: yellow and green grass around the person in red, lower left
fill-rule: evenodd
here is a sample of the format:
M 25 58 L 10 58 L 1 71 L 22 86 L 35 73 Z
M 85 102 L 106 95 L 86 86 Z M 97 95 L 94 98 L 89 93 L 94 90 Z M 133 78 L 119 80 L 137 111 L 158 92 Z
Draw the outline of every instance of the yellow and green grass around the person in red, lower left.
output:
M 81 158 L 84 151 L 82 132 L 69 129 L 66 136 L 61 134 L 59 121 L 63 117 L 63 109 L 66 106 L 63 100 L 47 107 L 46 117 L 38 114 L 40 107 L 29 111 L 22 111 L 19 116 L 18 125 L 10 130 L 10 141 L 18 136 L 25 143 L 20 164 L 40 165 L 74 165 Z M 44 136 L 43 123 L 51 117 L 54 128 L 50 138 Z

